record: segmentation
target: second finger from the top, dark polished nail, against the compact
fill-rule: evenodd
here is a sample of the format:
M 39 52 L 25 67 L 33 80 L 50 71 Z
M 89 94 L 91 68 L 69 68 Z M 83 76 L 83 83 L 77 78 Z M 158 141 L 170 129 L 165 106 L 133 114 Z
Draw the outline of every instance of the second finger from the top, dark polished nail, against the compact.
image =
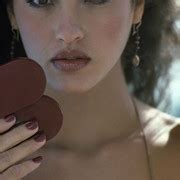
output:
M 28 121 L 0 136 L 0 153 L 28 139 L 38 131 L 38 122 Z

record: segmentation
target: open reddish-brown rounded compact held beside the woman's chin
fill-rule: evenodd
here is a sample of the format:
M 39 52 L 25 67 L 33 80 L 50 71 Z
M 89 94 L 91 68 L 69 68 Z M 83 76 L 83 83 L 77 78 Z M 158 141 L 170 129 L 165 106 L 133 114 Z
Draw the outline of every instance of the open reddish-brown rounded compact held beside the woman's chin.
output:
M 28 58 L 17 58 L 0 66 L 0 118 L 14 114 L 16 125 L 37 119 L 47 140 L 59 132 L 63 115 L 58 103 L 43 95 L 46 77 L 41 66 Z

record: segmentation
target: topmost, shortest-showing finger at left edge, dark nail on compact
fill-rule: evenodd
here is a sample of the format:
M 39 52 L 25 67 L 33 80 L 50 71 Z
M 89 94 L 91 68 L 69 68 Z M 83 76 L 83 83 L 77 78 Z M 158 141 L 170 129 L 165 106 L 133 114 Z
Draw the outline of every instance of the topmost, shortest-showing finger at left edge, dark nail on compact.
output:
M 10 129 L 16 122 L 16 117 L 13 115 L 7 116 L 4 119 L 0 119 L 0 133 L 4 133 Z

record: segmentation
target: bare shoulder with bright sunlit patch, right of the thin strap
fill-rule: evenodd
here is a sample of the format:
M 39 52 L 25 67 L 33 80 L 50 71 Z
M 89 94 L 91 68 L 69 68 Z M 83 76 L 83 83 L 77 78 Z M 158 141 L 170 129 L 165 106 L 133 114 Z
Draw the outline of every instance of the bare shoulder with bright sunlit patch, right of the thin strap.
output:
M 180 119 L 135 99 L 155 179 L 180 179 Z

